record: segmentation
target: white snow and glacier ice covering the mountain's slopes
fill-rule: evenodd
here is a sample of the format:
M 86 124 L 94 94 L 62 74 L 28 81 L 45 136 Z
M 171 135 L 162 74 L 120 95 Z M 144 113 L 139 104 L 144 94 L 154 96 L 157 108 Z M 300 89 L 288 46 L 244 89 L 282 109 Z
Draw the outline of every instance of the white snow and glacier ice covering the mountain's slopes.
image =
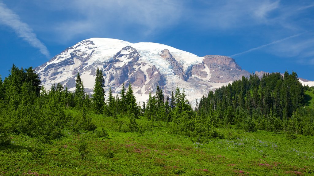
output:
M 84 43 L 87 40 L 92 41 L 93 44 L 90 44 L 89 42 Z M 46 79 L 46 89 L 49 89 L 53 82 L 68 82 L 67 80 L 73 79 L 78 71 L 80 72 L 84 87 L 88 89 L 93 89 L 95 84 L 95 75 L 93 75 L 92 70 L 94 70 L 96 67 L 102 69 L 103 65 L 106 65 L 107 62 L 113 60 L 113 56 L 119 51 L 121 51 L 121 54 L 124 54 L 125 56 L 117 58 L 118 60 L 120 60 L 120 62 L 115 63 L 115 66 L 117 68 L 124 66 L 133 59 L 127 59 L 127 57 L 129 56 L 128 54 L 133 52 L 133 49 L 122 50 L 122 48 L 126 46 L 131 46 L 138 51 L 140 56 L 138 62 L 142 64 L 140 66 L 133 65 L 133 67 L 135 70 L 141 69 L 146 75 L 145 85 L 142 87 L 133 88 L 134 95 L 136 96 L 138 101 L 143 102 L 148 99 L 149 95 L 145 94 L 145 92 L 146 85 L 149 83 L 150 79 L 146 70 L 152 68 L 153 65 L 155 65 L 155 67 L 160 71 L 160 73 L 164 76 L 166 80 L 165 89 L 168 90 L 168 92 L 164 92 L 165 96 L 167 95 L 167 93 L 169 93 L 169 91 L 175 91 L 177 86 L 184 87 L 187 98 L 188 100 L 190 100 L 192 105 L 195 104 L 196 99 L 202 97 L 203 95 L 207 95 L 208 91 L 232 82 L 210 82 L 211 70 L 206 65 L 205 69 L 203 69 L 203 71 L 208 73 L 208 76 L 206 78 L 201 78 L 196 75 L 192 75 L 191 78 L 198 78 L 200 83 L 202 83 L 203 85 L 182 80 L 179 76 L 173 73 L 170 62 L 160 56 L 161 51 L 164 49 L 168 49 L 173 57 L 182 64 L 184 71 L 190 69 L 192 65 L 195 65 L 197 63 L 203 63 L 204 58 L 198 57 L 195 54 L 182 51 L 180 49 L 173 48 L 168 45 L 150 42 L 140 42 L 133 44 L 123 40 L 106 38 L 91 38 L 87 40 L 83 40 L 82 42 L 75 44 L 72 48 L 65 50 L 60 55 L 57 55 L 52 60 L 48 61 L 45 66 L 39 67 L 37 72 L 40 74 L 42 80 Z M 71 54 L 73 55 L 73 53 L 75 53 L 75 55 L 77 56 L 73 57 L 74 64 L 62 65 L 60 67 L 55 66 L 57 63 L 60 63 L 63 60 L 71 58 Z M 46 70 L 45 73 L 43 73 L 46 68 L 48 68 L 48 71 Z M 51 74 L 56 72 L 60 73 L 51 77 Z M 109 70 L 106 71 L 106 73 L 104 74 L 110 75 L 110 73 L 114 74 L 115 72 L 116 70 Z M 157 74 L 157 72 L 155 72 L 154 74 Z M 73 87 L 69 88 L 69 90 L 71 91 L 73 91 L 74 89 L 75 88 Z M 117 87 L 116 91 L 120 89 L 121 86 Z M 109 83 L 107 82 L 107 80 L 106 91 L 109 91 Z

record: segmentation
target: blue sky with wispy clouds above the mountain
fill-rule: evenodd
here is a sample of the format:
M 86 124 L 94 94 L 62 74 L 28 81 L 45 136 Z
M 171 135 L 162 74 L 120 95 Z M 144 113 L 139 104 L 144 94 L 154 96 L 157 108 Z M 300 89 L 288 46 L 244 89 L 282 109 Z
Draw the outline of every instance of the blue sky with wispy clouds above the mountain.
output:
M 92 37 L 226 55 L 249 72 L 314 80 L 312 0 L 0 0 L 0 75 Z

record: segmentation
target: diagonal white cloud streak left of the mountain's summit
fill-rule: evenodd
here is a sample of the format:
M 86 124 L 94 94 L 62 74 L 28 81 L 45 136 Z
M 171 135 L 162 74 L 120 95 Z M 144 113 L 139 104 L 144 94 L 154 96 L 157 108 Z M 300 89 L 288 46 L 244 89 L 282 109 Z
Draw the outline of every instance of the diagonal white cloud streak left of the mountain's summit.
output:
M 31 46 L 38 48 L 41 54 L 44 54 L 47 58 L 50 58 L 47 47 L 37 39 L 33 29 L 24 22 L 21 21 L 19 15 L 6 7 L 6 5 L 0 2 L 0 24 L 9 26 L 14 32 L 27 41 Z

